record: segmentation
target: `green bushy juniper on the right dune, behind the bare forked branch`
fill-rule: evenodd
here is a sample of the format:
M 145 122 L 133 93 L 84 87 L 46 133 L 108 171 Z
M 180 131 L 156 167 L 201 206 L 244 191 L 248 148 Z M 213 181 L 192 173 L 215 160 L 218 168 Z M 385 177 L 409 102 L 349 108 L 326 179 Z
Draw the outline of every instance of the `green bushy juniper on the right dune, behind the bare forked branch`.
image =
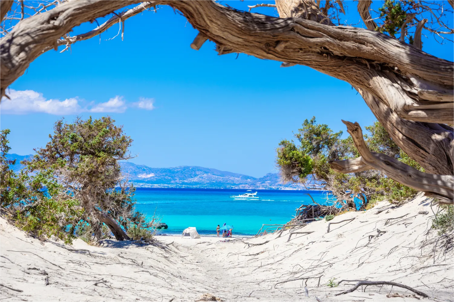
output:
M 365 127 L 365 144 L 374 152 L 381 152 L 422 171 L 390 138 L 379 122 Z M 334 133 L 326 124 L 317 124 L 315 117 L 305 120 L 295 133 L 294 141 L 282 140 L 277 148 L 277 165 L 284 182 L 301 182 L 306 186 L 322 185 L 336 196 L 339 211 L 364 209 L 370 201 L 388 198 L 402 201 L 416 194 L 416 190 L 401 185 L 375 170 L 338 173 L 329 164 L 333 160 L 359 158 L 353 139 L 341 138 L 342 131 Z M 311 177 L 308 177 L 311 175 Z M 355 202 L 361 200 L 361 204 Z

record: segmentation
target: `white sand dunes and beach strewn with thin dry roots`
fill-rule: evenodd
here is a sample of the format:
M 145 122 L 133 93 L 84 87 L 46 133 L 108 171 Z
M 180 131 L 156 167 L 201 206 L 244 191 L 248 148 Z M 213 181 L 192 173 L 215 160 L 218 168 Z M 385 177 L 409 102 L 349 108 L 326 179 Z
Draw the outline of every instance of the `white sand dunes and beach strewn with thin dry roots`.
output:
M 205 292 L 227 302 L 314 302 L 315 297 L 323 302 L 417 301 L 386 297 L 390 291 L 411 294 L 390 286 L 369 286 L 365 292 L 359 288 L 334 296 L 355 282 L 330 288 L 326 286 L 330 278 L 394 281 L 425 292 L 431 300 L 454 301 L 454 252 L 438 252 L 434 264 L 432 249 L 438 236 L 434 230 L 426 236 L 433 213 L 430 202 L 424 200 L 418 197 L 378 215 L 377 208 L 389 204 L 381 202 L 369 211 L 337 216 L 330 222 L 355 220 L 331 225 L 330 233 L 326 232 L 328 222 L 316 221 L 292 229 L 313 233 L 293 235 L 289 242 L 286 230 L 280 238 L 269 234 L 234 242 L 218 242 L 222 238 L 216 237 L 157 236 L 161 243 L 148 246 L 104 240 L 95 247 L 76 240 L 72 247 L 64 247 L 61 242 L 42 243 L 27 237 L 0 219 L 0 284 L 23 291 L 0 287 L 0 301 L 166 302 L 174 298 L 180 302 L 194 301 Z M 418 211 L 429 211 L 429 215 Z M 386 233 L 369 242 L 369 235 L 376 235 L 377 230 Z M 424 241 L 426 237 L 428 241 Z M 244 243 L 267 240 L 249 247 Z M 276 285 L 302 277 L 316 278 Z

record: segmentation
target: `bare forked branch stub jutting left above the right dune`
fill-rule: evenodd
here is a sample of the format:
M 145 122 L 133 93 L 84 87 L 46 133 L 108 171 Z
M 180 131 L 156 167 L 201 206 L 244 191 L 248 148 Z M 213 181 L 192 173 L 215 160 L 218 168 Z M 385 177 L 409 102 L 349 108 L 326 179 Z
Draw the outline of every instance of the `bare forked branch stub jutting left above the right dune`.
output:
M 355 159 L 331 161 L 331 168 L 339 173 L 352 173 L 365 170 L 379 170 L 397 182 L 424 192 L 426 196 L 439 199 L 446 204 L 454 204 L 454 177 L 424 173 L 391 158 L 383 153 L 370 152 L 358 123 L 343 121 L 353 138 L 361 157 Z

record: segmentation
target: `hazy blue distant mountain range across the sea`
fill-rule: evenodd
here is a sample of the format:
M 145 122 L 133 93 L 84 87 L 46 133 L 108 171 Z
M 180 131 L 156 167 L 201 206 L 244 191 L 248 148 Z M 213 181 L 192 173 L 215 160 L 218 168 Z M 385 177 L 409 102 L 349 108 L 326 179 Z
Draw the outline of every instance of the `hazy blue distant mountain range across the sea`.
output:
M 13 169 L 19 172 L 20 161 L 31 155 L 8 154 L 8 159 L 17 159 Z M 283 184 L 277 173 L 268 173 L 256 178 L 244 174 L 220 171 L 197 166 L 174 168 L 150 168 L 130 162 L 121 162 L 122 173 L 136 187 L 157 188 L 224 188 L 224 189 L 274 189 L 304 190 L 301 184 Z

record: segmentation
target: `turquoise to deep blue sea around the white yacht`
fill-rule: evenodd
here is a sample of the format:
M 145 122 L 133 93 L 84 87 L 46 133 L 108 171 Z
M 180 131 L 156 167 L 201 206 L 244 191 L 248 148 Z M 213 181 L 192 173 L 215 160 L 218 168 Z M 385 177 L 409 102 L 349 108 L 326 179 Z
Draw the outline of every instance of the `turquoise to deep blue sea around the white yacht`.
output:
M 234 200 L 246 190 L 137 188 L 137 209 L 162 218 L 168 225 L 159 234 L 179 235 L 195 226 L 200 235 L 216 235 L 216 226 L 233 225 L 233 236 L 255 235 L 262 224 L 284 224 L 301 204 L 325 203 L 326 192 L 254 190 L 260 200 Z

